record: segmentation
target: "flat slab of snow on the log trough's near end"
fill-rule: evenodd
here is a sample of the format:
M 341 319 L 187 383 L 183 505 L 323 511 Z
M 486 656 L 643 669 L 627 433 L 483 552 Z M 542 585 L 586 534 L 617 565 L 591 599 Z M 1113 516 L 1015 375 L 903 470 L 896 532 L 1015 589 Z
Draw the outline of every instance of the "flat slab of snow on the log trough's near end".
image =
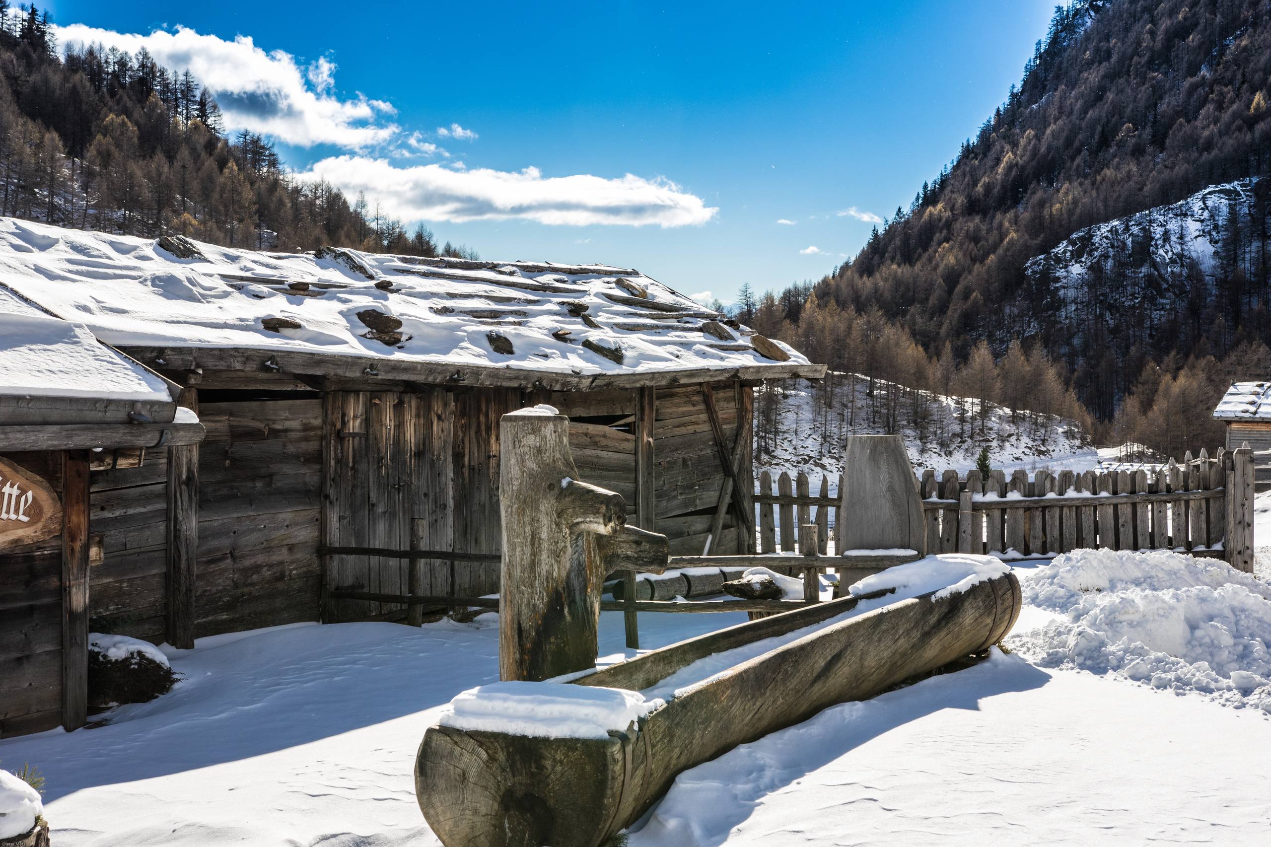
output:
M 553 682 L 500 682 L 460 693 L 437 717 L 441 726 L 533 738 L 597 738 L 622 733 L 662 706 L 623 688 Z

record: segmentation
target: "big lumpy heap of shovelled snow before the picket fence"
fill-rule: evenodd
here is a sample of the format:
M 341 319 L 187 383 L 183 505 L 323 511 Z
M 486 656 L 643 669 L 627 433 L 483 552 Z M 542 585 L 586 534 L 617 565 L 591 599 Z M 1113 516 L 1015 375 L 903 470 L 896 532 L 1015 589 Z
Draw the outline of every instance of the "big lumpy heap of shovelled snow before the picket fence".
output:
M 1271 586 L 1253 576 L 1181 553 L 1082 549 L 1022 588 L 1061 616 L 1012 636 L 1031 661 L 1271 712 Z

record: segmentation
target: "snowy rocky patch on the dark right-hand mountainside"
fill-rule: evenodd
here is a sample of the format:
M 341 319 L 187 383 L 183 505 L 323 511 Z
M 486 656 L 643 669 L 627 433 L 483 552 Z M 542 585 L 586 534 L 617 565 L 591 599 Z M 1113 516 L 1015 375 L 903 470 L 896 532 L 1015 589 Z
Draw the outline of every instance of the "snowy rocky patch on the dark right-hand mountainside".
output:
M 1117 326 L 1169 320 L 1190 298 L 1209 301 L 1237 267 L 1248 272 L 1244 265 L 1258 251 L 1243 230 L 1266 217 L 1266 198 L 1258 202 L 1256 191 L 1256 178 L 1209 186 L 1169 206 L 1082 229 L 1028 261 L 1022 296 L 1063 323 L 1102 313 Z

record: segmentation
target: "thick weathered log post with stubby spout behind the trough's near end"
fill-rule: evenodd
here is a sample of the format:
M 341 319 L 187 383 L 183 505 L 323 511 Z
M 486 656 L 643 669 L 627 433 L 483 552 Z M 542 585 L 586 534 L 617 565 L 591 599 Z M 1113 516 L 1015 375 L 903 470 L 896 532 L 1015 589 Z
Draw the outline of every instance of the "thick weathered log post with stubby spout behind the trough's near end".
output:
M 586 670 L 596 664 L 605 579 L 586 533 L 619 530 L 627 505 L 622 495 L 578 481 L 563 415 L 535 408 L 505 415 L 500 443 L 500 679 Z

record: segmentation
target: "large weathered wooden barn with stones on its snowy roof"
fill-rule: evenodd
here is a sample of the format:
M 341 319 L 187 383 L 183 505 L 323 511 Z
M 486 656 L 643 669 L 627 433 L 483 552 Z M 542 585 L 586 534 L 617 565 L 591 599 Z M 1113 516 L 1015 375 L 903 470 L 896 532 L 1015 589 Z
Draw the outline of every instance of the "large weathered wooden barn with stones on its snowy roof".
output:
M 674 552 L 745 547 L 731 500 L 754 491 L 752 387 L 825 370 L 602 265 L 268 253 L 10 219 L 0 252 L 0 286 L 170 379 L 206 427 L 92 479 L 94 630 L 177 646 L 405 616 L 351 594 L 498 591 L 498 422 L 526 404 L 568 415 L 583 478 Z M 173 609 L 168 586 L 187 580 Z

